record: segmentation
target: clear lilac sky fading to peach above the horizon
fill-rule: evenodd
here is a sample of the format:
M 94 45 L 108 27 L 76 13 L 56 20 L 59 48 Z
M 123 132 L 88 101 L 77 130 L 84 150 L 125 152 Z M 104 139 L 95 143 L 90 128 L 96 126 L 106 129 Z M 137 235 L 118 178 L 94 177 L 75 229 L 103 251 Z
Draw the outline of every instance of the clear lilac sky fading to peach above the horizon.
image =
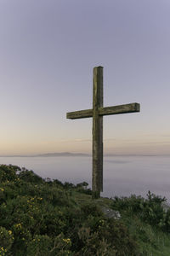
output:
M 169 0 L 0 0 L 0 155 L 92 151 L 104 67 L 105 154 L 170 154 Z

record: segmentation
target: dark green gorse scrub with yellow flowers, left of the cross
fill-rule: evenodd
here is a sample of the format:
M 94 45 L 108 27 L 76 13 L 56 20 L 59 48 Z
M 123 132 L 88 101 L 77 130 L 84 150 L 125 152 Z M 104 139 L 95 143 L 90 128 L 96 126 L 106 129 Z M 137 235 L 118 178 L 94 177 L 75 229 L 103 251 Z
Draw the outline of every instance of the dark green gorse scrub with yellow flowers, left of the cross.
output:
M 5 165 L 0 181 L 0 256 L 138 255 L 121 220 L 105 218 L 90 198 L 82 201 L 88 183 L 63 184 Z

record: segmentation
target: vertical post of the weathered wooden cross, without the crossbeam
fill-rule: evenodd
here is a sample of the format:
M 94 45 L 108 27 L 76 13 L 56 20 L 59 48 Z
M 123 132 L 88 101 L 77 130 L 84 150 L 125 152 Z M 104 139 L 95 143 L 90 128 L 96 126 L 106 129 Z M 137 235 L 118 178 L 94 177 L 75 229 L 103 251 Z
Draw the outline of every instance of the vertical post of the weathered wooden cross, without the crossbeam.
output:
M 99 116 L 102 107 L 103 67 L 94 67 L 92 189 L 97 197 L 103 191 L 103 117 Z

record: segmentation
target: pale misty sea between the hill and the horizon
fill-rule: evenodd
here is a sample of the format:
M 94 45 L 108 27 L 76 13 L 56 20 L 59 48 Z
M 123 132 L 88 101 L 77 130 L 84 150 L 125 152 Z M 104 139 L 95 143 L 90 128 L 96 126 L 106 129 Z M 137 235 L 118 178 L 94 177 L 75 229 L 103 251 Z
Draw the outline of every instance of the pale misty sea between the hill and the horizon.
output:
M 0 164 L 26 167 L 41 177 L 92 185 L 91 156 L 0 157 Z M 150 190 L 170 203 L 170 156 L 105 156 L 103 197 L 141 195 Z

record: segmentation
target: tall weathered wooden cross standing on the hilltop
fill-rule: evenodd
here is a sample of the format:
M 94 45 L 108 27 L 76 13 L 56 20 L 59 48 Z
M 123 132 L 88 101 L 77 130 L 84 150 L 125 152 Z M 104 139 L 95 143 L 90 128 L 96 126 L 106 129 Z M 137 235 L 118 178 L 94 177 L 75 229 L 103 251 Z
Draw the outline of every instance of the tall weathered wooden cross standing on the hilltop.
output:
M 103 108 L 103 67 L 94 67 L 93 109 L 66 113 L 67 119 L 93 118 L 93 197 L 103 191 L 103 116 L 118 113 L 139 112 L 139 103 Z

